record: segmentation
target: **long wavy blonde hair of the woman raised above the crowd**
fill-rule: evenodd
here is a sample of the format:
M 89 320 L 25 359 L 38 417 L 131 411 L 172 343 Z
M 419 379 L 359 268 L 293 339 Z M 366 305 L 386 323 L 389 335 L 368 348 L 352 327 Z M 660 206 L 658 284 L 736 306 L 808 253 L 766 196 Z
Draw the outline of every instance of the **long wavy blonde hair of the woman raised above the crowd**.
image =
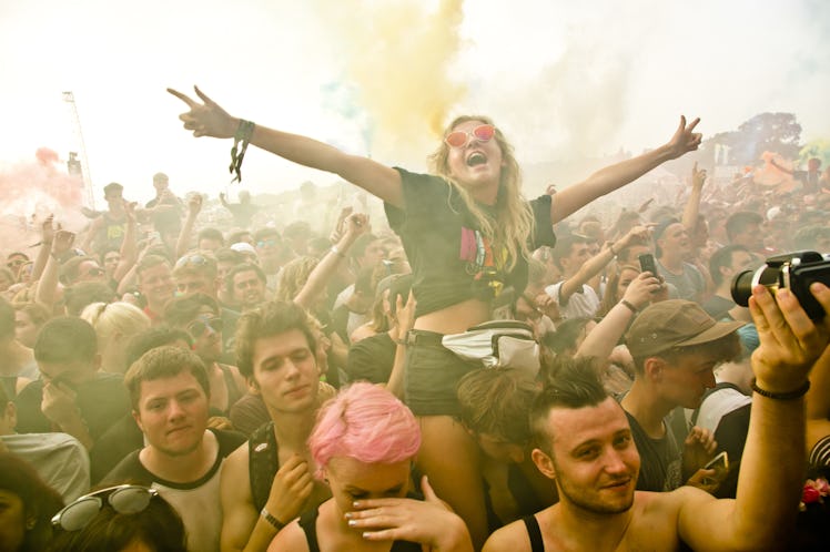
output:
M 463 115 L 456 117 L 444 131 L 444 137 L 453 129 L 468 121 L 480 121 L 493 124 L 496 127 L 495 140 L 502 150 L 502 177 L 496 197 L 496 218 L 487 216 L 473 200 L 469 193 L 449 175 L 447 160 L 449 146 L 442 140 L 441 146 L 427 157 L 429 171 L 446 180 L 452 188 L 458 192 L 464 204 L 478 224 L 478 229 L 487 236 L 496 247 L 507 249 L 506 269 L 509 272 L 516 266 L 519 256 L 529 258 L 528 238 L 532 237 L 534 228 L 534 215 L 530 205 L 522 195 L 522 170 L 513 153 L 513 146 L 507 142 L 502 131 L 493 123 L 493 120 L 482 115 Z M 451 188 L 451 192 L 452 192 Z M 449 196 L 447 197 L 447 201 Z M 495 248 L 495 247 L 494 247 Z

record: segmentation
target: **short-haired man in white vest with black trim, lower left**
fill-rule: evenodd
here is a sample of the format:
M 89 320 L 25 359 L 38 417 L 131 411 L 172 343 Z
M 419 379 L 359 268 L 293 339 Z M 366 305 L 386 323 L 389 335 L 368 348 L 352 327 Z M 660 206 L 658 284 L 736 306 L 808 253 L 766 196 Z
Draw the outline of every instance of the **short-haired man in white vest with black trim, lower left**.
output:
M 124 458 L 104 482 L 153 487 L 182 517 L 188 549 L 217 552 L 220 471 L 245 438 L 208 429 L 208 374 L 202 360 L 186 349 L 151 349 L 130 367 L 124 381 L 146 446 Z

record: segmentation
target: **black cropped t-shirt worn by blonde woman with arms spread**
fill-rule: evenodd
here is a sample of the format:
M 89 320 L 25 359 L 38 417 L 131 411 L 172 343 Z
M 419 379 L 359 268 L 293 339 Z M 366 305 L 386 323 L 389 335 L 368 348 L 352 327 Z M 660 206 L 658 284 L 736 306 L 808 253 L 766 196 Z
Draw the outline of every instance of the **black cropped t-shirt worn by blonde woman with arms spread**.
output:
M 458 193 L 444 178 L 396 168 L 403 184 L 404 208 L 384 204 L 389 227 L 401 236 L 413 269 L 415 316 L 423 316 L 467 299 L 489 300 L 489 282 L 503 282 L 518 293 L 527 285 L 527 260 L 519 258 L 510 274 L 500 274 L 498 252 L 493 254 L 478 234 L 475 218 Z M 556 243 L 550 223 L 550 196 L 530 202 L 535 227 L 530 249 Z M 482 205 L 487 213 L 492 207 Z M 486 252 L 486 254 L 484 254 Z M 495 277 L 490 273 L 496 272 Z

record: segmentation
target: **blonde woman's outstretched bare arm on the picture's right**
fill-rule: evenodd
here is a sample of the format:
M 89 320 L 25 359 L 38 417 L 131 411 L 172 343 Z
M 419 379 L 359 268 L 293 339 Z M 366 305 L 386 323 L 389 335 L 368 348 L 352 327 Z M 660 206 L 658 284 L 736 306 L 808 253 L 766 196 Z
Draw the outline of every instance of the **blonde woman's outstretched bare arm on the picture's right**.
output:
M 642 155 L 600 168 L 588 176 L 587 180 L 557 193 L 550 204 L 550 219 L 556 224 L 597 197 L 625 186 L 667 161 L 697 150 L 702 134 L 694 131 L 699 122 L 700 119 L 696 119 L 687 125 L 686 117 L 680 116 L 680 125 L 667 144 Z

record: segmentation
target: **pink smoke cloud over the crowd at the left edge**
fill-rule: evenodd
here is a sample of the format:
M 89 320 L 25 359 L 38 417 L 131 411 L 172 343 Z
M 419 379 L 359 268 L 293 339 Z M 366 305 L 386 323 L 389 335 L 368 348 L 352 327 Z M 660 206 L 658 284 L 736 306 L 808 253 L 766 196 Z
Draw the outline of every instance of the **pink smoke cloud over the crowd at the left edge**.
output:
M 0 253 L 22 251 L 40 241 L 40 223 L 54 214 L 63 228 L 78 232 L 87 221 L 80 214 L 83 205 L 83 181 L 67 173 L 58 153 L 40 147 L 37 161 L 0 167 Z

